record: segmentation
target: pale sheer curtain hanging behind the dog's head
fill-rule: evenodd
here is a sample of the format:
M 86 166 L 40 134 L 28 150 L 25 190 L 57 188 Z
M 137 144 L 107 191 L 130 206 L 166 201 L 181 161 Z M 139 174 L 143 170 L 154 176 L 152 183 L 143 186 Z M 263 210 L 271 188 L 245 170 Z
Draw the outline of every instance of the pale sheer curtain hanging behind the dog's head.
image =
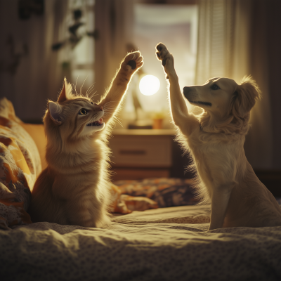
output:
M 244 149 L 254 169 L 271 169 L 273 128 L 270 115 L 265 15 L 254 25 L 254 0 L 199 0 L 198 49 L 195 84 L 211 77 L 229 77 L 238 83 L 251 74 L 262 100 L 251 111 L 252 124 Z M 262 1 L 259 1 L 262 4 Z M 264 1 L 263 1 L 264 2 Z M 256 9 L 255 9 L 256 11 Z M 256 15 L 255 15 L 256 17 Z M 259 30 L 259 31 L 258 31 Z

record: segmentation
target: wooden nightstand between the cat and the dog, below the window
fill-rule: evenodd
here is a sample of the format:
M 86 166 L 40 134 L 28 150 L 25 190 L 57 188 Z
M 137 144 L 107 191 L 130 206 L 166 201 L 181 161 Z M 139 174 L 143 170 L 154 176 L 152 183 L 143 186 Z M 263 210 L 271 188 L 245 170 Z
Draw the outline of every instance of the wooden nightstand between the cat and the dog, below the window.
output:
M 173 164 L 173 129 L 117 129 L 110 139 L 113 181 L 169 177 Z

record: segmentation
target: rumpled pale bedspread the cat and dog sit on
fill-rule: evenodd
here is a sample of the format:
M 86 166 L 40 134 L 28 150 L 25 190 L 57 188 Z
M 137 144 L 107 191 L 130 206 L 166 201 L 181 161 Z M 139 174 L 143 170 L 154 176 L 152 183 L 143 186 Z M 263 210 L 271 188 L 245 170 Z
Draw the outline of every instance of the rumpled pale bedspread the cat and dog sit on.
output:
M 0 230 L 0 280 L 281 280 L 281 227 L 207 231 L 199 206 L 112 221 Z

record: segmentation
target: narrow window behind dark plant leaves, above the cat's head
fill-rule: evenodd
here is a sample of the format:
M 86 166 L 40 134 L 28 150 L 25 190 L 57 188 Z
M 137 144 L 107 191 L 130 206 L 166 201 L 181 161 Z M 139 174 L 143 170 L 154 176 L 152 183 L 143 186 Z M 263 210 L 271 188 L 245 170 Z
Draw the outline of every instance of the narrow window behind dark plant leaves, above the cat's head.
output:
M 60 52 L 63 74 L 82 93 L 94 82 L 94 0 L 68 0 L 64 34 L 68 44 Z M 75 25 L 77 29 L 75 28 Z M 72 30 L 71 30 L 72 29 Z M 75 90 L 74 90 L 75 91 Z

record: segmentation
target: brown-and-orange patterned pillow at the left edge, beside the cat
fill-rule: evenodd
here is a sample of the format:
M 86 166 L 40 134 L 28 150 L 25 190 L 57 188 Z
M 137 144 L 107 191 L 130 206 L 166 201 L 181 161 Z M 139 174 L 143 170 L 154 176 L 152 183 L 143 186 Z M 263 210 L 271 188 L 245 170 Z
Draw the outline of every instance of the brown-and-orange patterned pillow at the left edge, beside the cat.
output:
M 31 223 L 27 208 L 41 171 L 37 145 L 22 128 L 12 103 L 0 100 L 0 228 Z

